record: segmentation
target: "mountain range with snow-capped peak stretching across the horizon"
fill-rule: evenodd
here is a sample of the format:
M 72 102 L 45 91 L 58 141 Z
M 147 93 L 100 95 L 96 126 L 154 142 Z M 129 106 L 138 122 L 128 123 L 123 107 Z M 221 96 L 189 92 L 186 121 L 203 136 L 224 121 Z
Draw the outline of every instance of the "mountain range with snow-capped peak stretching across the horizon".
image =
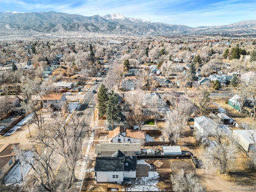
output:
M 256 34 L 256 20 L 224 26 L 192 28 L 126 18 L 122 14 L 82 16 L 57 12 L 0 12 L 0 34 L 14 32 L 65 33 L 88 32 L 134 36 L 192 34 Z

